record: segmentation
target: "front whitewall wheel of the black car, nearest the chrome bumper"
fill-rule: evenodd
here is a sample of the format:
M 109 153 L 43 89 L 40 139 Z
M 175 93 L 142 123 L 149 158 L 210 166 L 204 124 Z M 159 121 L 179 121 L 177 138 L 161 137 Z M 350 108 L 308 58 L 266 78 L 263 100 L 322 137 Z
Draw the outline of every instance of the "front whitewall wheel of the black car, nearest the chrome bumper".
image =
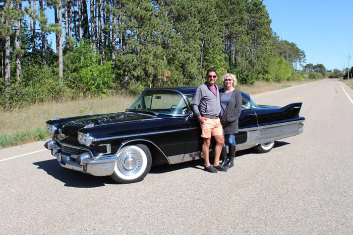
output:
M 144 144 L 125 146 L 116 154 L 114 173 L 110 176 L 121 184 L 143 180 L 151 169 L 152 156 Z

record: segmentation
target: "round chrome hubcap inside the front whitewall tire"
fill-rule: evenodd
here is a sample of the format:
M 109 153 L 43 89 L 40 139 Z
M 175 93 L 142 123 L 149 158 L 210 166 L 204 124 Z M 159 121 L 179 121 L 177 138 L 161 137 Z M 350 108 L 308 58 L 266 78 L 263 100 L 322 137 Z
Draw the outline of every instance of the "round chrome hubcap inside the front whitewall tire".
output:
M 117 161 L 117 167 L 121 173 L 127 176 L 137 174 L 143 164 L 142 157 L 135 151 L 123 152 Z

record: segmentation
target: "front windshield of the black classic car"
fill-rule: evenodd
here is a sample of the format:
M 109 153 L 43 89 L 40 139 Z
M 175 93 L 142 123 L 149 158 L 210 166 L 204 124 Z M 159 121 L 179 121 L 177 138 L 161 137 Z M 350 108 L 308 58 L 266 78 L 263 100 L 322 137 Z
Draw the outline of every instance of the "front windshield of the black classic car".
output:
M 189 111 L 183 96 L 169 90 L 144 91 L 137 98 L 130 110 L 150 110 L 166 115 L 186 115 Z

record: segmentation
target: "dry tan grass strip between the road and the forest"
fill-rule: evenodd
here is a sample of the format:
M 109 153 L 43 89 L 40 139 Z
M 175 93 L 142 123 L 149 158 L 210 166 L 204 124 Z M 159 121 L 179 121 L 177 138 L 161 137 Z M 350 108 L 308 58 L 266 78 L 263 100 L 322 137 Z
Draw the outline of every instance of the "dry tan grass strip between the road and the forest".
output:
M 253 95 L 309 82 L 312 81 L 256 82 L 253 86 L 241 85 L 240 90 Z M 45 121 L 56 116 L 121 112 L 128 109 L 135 99 L 134 96 L 122 94 L 62 103 L 33 104 L 27 108 L 7 112 L 0 110 L 0 148 L 50 138 L 45 131 Z

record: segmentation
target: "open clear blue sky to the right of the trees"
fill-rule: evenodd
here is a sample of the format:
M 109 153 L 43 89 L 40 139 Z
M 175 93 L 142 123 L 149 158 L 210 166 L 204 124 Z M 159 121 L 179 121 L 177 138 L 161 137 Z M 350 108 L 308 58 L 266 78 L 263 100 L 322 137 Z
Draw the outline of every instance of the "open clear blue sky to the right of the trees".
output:
M 264 0 L 271 28 L 305 51 L 306 63 L 353 66 L 353 0 Z M 350 13 L 348 12 L 350 11 Z

